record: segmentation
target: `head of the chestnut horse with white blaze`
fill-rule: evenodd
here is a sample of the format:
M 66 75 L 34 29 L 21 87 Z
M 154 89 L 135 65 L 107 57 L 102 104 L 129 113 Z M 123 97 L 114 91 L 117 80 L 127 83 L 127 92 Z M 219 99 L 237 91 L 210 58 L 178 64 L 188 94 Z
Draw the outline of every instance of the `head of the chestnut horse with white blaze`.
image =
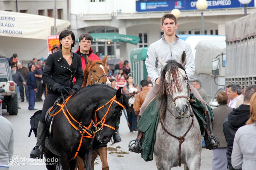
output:
M 108 79 L 108 68 L 106 67 L 108 55 L 102 60 L 92 61 L 87 56 L 88 64 L 84 69 L 83 87 L 89 84 L 107 84 L 111 85 Z

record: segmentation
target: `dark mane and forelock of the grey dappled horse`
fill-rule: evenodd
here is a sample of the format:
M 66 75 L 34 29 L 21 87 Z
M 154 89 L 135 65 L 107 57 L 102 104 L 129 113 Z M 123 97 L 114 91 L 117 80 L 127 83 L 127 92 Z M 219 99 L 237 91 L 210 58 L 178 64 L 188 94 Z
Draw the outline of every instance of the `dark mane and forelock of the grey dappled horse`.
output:
M 180 80 L 180 71 L 178 68 L 181 68 L 185 71 L 185 68 L 178 63 L 176 60 L 168 60 L 166 62 L 166 66 L 163 68 L 160 77 L 160 88 L 158 90 L 158 100 L 159 100 L 159 119 L 164 122 L 165 113 L 167 107 L 167 91 L 169 86 L 169 93 L 173 94 L 175 91 L 183 91 L 181 80 Z M 166 82 L 166 73 L 169 71 L 167 75 Z M 185 71 L 186 72 L 186 71 Z M 173 91 L 174 90 L 174 91 Z

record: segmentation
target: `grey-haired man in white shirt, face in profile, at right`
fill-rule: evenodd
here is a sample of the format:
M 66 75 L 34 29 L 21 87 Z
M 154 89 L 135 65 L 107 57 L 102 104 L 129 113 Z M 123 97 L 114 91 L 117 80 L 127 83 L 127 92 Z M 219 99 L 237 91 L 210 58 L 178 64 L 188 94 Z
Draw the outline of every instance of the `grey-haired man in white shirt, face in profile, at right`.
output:
M 228 95 L 230 98 L 229 107 L 237 108 L 241 104 L 243 104 L 243 95 L 242 89 L 238 84 L 229 84 L 228 88 Z

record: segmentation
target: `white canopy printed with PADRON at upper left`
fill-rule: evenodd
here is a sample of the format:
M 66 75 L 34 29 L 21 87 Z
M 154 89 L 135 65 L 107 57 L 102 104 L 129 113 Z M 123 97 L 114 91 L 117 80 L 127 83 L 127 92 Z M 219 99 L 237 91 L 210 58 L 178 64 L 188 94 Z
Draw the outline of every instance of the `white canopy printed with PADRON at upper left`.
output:
M 0 36 L 46 40 L 52 26 L 54 18 L 48 16 L 0 11 Z M 56 19 L 57 34 L 69 26 L 69 21 Z

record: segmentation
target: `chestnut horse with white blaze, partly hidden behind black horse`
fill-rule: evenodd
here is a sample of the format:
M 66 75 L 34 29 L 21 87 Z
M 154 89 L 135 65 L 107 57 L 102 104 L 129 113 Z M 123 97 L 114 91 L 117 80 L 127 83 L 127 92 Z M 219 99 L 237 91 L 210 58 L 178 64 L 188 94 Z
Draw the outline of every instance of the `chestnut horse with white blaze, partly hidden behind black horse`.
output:
M 111 84 L 108 79 L 108 68 L 107 65 L 108 55 L 102 61 L 92 61 L 87 57 L 88 64 L 84 69 L 84 82 L 82 87 L 88 86 L 90 84 Z M 109 170 L 108 160 L 107 160 L 107 147 L 102 147 L 96 151 L 92 152 L 92 168 L 94 169 L 94 161 L 97 156 L 100 156 L 102 162 L 102 170 Z M 84 170 L 84 163 L 81 158 L 78 157 L 77 168 L 79 170 Z

